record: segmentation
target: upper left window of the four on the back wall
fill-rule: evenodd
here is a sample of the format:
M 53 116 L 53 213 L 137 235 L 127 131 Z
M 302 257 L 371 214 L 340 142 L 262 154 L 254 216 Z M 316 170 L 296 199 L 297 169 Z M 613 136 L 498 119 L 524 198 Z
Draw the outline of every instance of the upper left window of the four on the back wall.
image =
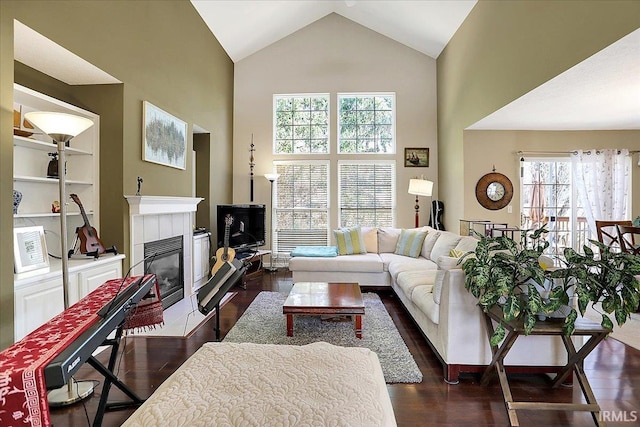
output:
M 274 96 L 274 153 L 329 153 L 329 95 Z

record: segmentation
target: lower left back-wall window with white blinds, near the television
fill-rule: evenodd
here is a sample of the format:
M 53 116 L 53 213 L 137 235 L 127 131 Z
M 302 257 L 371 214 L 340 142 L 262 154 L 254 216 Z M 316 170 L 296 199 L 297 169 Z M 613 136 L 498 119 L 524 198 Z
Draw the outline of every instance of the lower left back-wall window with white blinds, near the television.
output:
M 276 161 L 273 250 L 329 244 L 329 161 Z

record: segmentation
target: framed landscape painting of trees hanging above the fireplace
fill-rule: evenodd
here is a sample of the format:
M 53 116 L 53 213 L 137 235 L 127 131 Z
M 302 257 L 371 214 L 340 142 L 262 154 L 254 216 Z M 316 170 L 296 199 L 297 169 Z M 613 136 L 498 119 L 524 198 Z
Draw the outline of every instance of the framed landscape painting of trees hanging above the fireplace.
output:
M 142 104 L 142 158 L 151 163 L 185 169 L 187 123 L 150 102 Z

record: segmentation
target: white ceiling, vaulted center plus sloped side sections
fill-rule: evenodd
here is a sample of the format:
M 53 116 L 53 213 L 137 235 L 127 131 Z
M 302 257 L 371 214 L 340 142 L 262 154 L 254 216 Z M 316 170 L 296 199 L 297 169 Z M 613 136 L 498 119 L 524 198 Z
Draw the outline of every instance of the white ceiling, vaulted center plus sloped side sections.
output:
M 476 1 L 192 0 L 192 3 L 229 57 L 239 61 L 330 13 L 338 13 L 437 58 Z M 17 21 L 14 43 L 16 60 L 68 84 L 117 82 Z M 470 129 L 640 129 L 638 70 L 640 29 Z

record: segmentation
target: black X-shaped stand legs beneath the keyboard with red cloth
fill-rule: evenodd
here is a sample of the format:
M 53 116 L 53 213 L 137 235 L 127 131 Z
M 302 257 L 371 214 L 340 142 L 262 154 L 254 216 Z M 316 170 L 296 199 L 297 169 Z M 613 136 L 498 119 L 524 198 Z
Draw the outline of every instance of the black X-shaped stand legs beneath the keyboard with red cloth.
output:
M 111 355 L 109 356 L 108 366 L 104 366 L 94 356 L 87 359 L 87 363 L 91 365 L 96 371 L 104 376 L 104 383 L 102 384 L 102 395 L 100 396 L 100 402 L 98 403 L 98 410 L 96 417 L 93 419 L 93 426 L 99 427 L 102 425 L 102 419 L 104 413 L 107 410 L 126 409 L 131 407 L 137 407 L 144 403 L 145 399 L 140 398 L 133 390 L 131 390 L 125 383 L 120 381 L 118 377 L 113 373 L 113 369 L 116 366 L 116 360 L 118 358 L 118 349 L 120 348 L 120 339 L 122 338 L 122 325 L 116 329 L 116 335 L 113 339 L 107 339 L 103 345 L 111 346 Z M 111 385 L 118 387 L 124 394 L 126 394 L 131 401 L 125 402 L 107 402 L 109 398 L 109 389 Z

